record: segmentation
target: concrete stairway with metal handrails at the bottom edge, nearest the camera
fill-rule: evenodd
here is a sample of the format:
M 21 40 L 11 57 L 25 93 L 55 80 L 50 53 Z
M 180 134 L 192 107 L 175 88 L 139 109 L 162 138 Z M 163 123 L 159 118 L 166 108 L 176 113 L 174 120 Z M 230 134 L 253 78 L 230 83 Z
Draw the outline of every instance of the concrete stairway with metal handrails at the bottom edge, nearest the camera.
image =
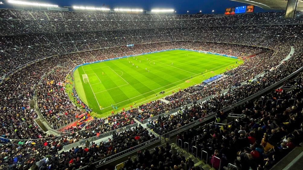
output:
M 195 155 L 191 154 L 190 152 L 188 152 L 184 148 L 181 148 L 175 143 L 172 143 L 171 145 L 175 146 L 175 149 L 177 149 L 178 153 L 181 152 L 183 154 L 185 160 L 191 158 L 191 160 L 195 163 L 195 166 L 199 166 L 203 168 L 203 170 L 215 170 L 215 168 L 211 168 L 211 165 L 206 164 L 204 159 L 201 160 L 200 158 L 196 157 Z

